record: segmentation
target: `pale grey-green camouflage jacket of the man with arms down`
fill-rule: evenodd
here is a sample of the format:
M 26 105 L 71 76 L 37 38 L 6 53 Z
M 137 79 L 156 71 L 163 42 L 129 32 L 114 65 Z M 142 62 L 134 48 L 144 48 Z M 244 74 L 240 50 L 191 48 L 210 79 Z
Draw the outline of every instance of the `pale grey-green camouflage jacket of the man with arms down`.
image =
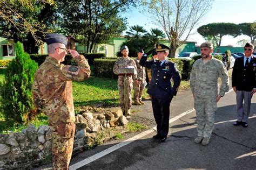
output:
M 192 93 L 198 97 L 216 97 L 218 95 L 218 78 L 221 78 L 219 95 L 228 91 L 227 70 L 220 60 L 212 59 L 204 64 L 203 59 L 194 62 L 190 74 Z

